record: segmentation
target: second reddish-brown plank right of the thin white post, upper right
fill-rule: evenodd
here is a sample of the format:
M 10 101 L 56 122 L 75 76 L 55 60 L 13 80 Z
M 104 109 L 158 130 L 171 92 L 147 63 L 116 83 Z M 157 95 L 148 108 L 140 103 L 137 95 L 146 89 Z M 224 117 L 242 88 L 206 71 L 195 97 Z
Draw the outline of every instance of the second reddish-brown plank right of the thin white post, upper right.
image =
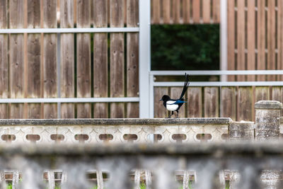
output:
M 237 70 L 245 70 L 245 0 L 238 0 L 237 6 Z M 245 81 L 245 76 L 237 76 L 237 81 Z

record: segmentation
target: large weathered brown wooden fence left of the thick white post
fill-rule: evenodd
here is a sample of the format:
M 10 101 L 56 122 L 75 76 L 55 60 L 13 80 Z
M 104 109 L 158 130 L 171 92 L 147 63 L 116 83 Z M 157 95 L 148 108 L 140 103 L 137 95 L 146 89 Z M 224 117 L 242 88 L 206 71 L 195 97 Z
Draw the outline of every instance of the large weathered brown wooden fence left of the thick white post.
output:
M 0 29 L 138 27 L 138 5 L 2 0 Z M 138 33 L 1 34 L 0 98 L 137 97 L 138 65 Z M 139 116 L 138 103 L 13 103 L 0 104 L 0 118 L 57 118 L 57 110 L 61 118 Z

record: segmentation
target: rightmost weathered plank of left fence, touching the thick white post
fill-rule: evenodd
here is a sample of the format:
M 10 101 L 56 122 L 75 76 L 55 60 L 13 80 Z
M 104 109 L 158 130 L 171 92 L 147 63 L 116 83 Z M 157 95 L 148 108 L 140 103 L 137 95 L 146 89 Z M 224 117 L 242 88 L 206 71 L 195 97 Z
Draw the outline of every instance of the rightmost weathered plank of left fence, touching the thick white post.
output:
M 139 27 L 139 0 L 127 1 L 127 27 Z M 139 33 L 127 33 L 127 96 L 139 96 Z M 127 118 L 139 118 L 139 103 L 127 103 Z

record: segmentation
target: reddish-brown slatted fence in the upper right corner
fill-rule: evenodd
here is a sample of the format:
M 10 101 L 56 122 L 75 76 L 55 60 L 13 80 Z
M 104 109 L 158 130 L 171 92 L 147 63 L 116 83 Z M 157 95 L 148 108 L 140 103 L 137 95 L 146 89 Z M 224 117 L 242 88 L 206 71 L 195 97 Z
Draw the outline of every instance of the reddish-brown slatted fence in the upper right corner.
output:
M 228 69 L 283 69 L 283 1 L 228 2 Z M 230 81 L 282 81 L 282 76 L 229 76 Z

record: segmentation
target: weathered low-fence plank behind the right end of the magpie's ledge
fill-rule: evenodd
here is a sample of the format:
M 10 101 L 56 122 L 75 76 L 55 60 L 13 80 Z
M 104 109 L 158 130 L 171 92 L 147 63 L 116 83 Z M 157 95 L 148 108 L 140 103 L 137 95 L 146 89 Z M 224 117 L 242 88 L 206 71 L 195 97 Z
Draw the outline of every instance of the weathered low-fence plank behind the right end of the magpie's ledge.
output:
M 236 120 L 236 88 L 221 88 L 221 117 Z

